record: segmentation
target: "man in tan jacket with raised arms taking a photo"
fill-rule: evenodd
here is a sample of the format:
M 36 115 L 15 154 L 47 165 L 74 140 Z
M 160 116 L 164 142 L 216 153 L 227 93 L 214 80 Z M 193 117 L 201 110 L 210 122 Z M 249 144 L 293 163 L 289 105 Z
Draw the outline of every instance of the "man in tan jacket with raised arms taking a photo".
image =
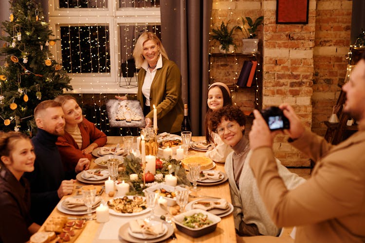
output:
M 365 53 L 342 87 L 343 108 L 358 122 L 359 131 L 334 146 L 305 129 L 293 108 L 279 108 L 290 121 L 292 145 L 316 165 L 310 179 L 289 191 L 277 173 L 271 131 L 261 114 L 249 134 L 251 168 L 262 199 L 277 226 L 297 226 L 295 242 L 365 241 Z

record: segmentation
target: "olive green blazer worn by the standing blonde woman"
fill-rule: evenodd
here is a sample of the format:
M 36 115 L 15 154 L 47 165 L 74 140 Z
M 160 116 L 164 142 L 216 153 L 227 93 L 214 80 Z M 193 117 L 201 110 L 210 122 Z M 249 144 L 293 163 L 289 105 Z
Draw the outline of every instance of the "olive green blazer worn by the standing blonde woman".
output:
M 144 100 L 142 86 L 146 70 L 138 72 L 137 99 L 143 109 Z M 158 132 L 176 133 L 181 131 L 183 122 L 183 99 L 181 97 L 181 73 L 178 66 L 170 60 L 162 58 L 162 68 L 157 69 L 149 94 L 150 112 L 146 117 L 153 121 L 153 105 L 157 109 Z

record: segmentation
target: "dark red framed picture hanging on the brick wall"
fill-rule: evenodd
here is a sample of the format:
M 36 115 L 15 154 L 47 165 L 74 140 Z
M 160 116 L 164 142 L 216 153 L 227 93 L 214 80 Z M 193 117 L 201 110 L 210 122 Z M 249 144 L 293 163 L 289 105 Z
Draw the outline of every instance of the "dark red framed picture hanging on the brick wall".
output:
M 308 24 L 309 0 L 276 0 L 277 24 Z

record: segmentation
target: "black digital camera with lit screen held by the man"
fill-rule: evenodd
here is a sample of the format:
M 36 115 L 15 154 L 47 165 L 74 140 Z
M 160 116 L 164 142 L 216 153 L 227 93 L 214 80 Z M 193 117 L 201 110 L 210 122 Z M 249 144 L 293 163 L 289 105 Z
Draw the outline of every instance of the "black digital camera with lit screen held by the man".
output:
M 290 123 L 283 111 L 277 106 L 270 106 L 261 110 L 261 115 L 269 125 L 270 130 L 289 129 Z

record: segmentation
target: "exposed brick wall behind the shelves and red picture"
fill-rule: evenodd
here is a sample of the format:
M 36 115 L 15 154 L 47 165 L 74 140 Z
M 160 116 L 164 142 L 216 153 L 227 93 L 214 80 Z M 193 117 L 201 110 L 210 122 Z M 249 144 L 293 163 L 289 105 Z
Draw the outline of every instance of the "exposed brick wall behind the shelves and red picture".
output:
M 351 0 L 310 0 L 308 24 L 277 25 L 276 0 L 213 0 L 212 23 L 215 26 L 223 20 L 233 26 L 240 24 L 241 16 L 263 15 L 265 25 L 258 35 L 262 40 L 262 106 L 289 103 L 312 131 L 324 135 L 323 121 L 331 115 L 340 91 L 337 82 L 346 74 L 351 6 Z M 241 51 L 240 38 L 237 33 L 237 52 Z M 215 41 L 210 46 L 217 52 Z M 229 74 L 227 70 L 239 70 L 241 65 L 217 61 L 212 63 L 217 70 L 211 76 L 215 81 L 234 81 L 239 71 Z M 238 89 L 234 94 L 243 110 L 250 108 L 252 92 Z M 275 156 L 287 166 L 309 166 L 309 158 L 286 140 L 286 136 L 276 137 Z

